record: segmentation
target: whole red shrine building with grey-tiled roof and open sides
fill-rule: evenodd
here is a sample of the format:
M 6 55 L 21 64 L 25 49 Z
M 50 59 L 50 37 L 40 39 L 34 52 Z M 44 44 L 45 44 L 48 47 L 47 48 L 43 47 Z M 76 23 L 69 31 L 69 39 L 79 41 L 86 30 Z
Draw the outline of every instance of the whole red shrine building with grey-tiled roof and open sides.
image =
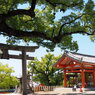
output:
M 65 51 L 54 67 L 63 69 L 64 87 L 95 87 L 95 56 Z

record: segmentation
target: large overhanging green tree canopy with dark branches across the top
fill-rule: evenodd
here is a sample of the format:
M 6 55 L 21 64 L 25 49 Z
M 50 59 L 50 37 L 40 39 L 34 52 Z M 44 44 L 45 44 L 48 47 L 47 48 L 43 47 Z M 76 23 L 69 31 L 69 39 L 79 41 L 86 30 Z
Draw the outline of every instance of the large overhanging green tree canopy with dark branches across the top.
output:
M 95 34 L 94 0 L 85 1 L 0 0 L 0 34 L 12 44 L 23 39 L 51 50 L 78 50 L 72 34 Z

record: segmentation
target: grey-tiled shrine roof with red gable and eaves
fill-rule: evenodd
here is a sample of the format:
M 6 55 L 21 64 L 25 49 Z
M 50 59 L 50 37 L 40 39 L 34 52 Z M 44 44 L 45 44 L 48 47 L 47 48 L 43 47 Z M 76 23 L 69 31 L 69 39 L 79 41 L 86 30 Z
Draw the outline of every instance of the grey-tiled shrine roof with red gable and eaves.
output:
M 71 64 L 80 67 L 78 64 L 85 66 L 95 65 L 95 56 L 65 51 L 63 56 L 53 66 L 58 68 L 69 68 Z

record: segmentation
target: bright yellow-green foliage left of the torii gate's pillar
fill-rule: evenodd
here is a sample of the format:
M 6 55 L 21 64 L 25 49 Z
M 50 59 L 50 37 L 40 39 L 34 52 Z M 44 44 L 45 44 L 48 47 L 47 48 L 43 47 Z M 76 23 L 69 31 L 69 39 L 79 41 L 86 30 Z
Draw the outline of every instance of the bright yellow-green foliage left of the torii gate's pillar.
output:
M 11 75 L 13 72 L 11 67 L 0 63 L 0 88 L 9 89 L 15 87 L 19 83 L 17 78 Z

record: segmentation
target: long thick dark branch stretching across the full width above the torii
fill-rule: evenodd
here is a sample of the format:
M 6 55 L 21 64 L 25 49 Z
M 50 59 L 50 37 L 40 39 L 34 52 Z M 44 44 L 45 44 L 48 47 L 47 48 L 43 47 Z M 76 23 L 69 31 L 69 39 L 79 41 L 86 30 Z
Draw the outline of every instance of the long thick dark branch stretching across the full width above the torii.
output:
M 10 28 L 9 26 L 7 26 L 6 23 L 1 23 L 0 24 L 0 31 L 2 34 L 8 35 L 8 36 L 15 36 L 15 37 L 19 37 L 19 38 L 23 38 L 23 37 L 28 37 L 28 38 L 32 38 L 32 37 L 38 37 L 38 38 L 42 38 L 44 40 L 49 40 L 56 43 L 59 43 L 62 38 L 64 38 L 65 36 L 68 35 L 72 35 L 72 34 L 87 34 L 87 35 L 94 35 L 95 31 L 93 32 L 85 32 L 85 31 L 76 31 L 76 32 L 65 32 L 61 35 L 57 35 L 54 37 L 48 37 L 48 35 L 46 35 L 44 32 L 39 32 L 39 31 L 22 31 L 22 30 L 15 30 Z

